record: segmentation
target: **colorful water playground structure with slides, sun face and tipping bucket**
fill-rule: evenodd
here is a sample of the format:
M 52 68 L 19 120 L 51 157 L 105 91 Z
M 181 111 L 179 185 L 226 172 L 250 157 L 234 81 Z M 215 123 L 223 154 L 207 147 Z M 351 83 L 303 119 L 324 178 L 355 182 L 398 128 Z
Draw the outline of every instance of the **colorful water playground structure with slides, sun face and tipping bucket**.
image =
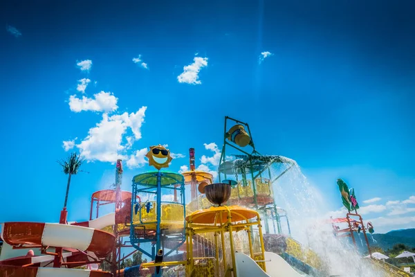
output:
M 156 170 L 134 176 L 131 192 L 121 190 L 117 161 L 116 186 L 91 195 L 88 221 L 1 224 L 0 276 L 329 276 L 324 261 L 291 238 L 275 203 L 274 184 L 295 161 L 259 154 L 249 125 L 228 116 L 223 137 L 217 183 L 196 170 L 194 148 L 190 170 L 176 173 L 162 170 L 172 157 L 155 145 L 146 157 Z M 102 215 L 103 206 L 113 213 Z M 136 251 L 151 262 L 120 269 Z

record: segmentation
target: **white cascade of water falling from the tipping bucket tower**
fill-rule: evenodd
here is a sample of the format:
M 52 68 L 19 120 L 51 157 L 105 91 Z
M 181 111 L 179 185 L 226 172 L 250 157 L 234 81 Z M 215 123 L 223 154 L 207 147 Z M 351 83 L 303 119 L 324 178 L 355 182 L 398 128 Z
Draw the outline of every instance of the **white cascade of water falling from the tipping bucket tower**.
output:
M 273 189 L 277 206 L 288 214 L 293 238 L 315 251 L 326 262 L 331 276 L 383 276 L 350 243 L 335 238 L 331 224 L 323 222 L 329 211 L 324 195 L 311 186 L 297 163 L 292 162 L 291 170 L 273 184 Z M 273 176 L 282 170 L 284 166 L 276 166 Z

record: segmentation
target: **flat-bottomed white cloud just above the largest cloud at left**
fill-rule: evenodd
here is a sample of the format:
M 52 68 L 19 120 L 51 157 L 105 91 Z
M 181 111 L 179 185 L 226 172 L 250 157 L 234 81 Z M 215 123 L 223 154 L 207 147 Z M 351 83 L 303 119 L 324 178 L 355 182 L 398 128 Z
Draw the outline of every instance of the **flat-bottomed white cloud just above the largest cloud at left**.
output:
M 117 106 L 118 98 L 113 96 L 111 92 L 101 91 L 95 93 L 93 98 L 82 96 L 82 99 L 77 98 L 75 95 L 69 97 L 69 108 L 71 111 L 115 111 L 118 109 Z

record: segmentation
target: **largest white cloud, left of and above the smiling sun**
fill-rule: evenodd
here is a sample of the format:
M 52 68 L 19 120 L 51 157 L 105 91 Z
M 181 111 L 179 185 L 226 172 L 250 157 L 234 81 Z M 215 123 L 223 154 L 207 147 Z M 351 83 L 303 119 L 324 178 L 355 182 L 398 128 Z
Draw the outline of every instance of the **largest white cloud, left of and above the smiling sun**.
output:
M 127 147 L 124 145 L 123 136 L 127 129 L 131 129 L 133 136 L 127 141 L 127 145 L 141 139 L 140 128 L 144 122 L 146 109 L 147 107 L 141 107 L 136 113 L 125 112 L 111 117 L 103 114 L 100 123 L 89 129 L 88 136 L 76 145 L 77 148 L 88 161 L 114 162 L 117 159 L 128 159 L 124 154 Z M 140 161 L 138 158 L 134 159 Z M 130 161 L 130 165 L 133 164 L 134 161 Z

